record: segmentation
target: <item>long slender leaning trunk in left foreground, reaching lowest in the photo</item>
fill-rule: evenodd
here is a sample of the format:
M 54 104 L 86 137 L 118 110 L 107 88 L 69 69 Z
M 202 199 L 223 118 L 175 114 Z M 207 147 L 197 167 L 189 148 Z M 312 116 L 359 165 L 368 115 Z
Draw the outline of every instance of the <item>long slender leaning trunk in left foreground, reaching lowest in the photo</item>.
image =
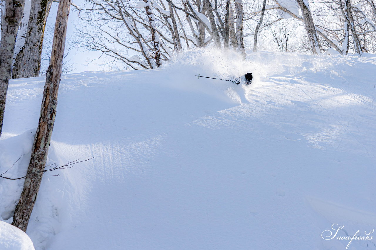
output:
M 70 3 L 71 0 L 60 0 L 59 2 L 50 65 L 46 72 L 41 115 L 35 134 L 24 188 L 13 217 L 12 225 L 20 228 L 24 232 L 26 232 L 39 186 L 41 185 L 43 172 L 40 171 L 44 170 L 47 161 L 47 152 L 50 146 L 53 125 L 55 123 Z

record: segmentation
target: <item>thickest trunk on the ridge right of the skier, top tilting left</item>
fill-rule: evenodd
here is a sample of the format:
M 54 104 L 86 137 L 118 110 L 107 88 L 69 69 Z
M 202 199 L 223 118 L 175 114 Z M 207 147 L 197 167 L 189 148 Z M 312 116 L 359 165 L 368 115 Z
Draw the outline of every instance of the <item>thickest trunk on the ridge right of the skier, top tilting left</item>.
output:
M 311 11 L 309 10 L 308 3 L 305 0 L 297 0 L 300 9 L 302 10 L 304 24 L 308 34 L 309 42 L 311 43 L 313 54 L 320 53 L 320 45 L 318 44 L 318 37 L 316 27 L 313 22 Z

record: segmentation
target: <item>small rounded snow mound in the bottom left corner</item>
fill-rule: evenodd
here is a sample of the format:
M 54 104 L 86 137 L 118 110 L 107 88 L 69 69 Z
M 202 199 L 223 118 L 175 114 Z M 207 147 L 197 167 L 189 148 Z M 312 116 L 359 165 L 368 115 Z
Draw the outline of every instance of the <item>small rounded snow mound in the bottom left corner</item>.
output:
M 1 250 L 34 250 L 33 242 L 21 229 L 0 221 Z

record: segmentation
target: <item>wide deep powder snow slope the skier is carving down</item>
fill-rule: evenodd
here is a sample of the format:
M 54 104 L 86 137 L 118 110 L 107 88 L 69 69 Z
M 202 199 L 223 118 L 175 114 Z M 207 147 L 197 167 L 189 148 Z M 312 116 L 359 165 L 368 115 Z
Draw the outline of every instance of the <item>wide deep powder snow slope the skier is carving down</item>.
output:
M 49 159 L 95 158 L 43 179 L 27 233 L 37 250 L 345 249 L 321 233 L 376 229 L 375 66 L 191 51 L 164 69 L 65 75 Z M 246 72 L 250 87 L 194 76 Z M 23 155 L 9 176 L 26 172 L 43 85 L 9 86 L 1 170 Z M 3 220 L 22 185 L 0 180 Z

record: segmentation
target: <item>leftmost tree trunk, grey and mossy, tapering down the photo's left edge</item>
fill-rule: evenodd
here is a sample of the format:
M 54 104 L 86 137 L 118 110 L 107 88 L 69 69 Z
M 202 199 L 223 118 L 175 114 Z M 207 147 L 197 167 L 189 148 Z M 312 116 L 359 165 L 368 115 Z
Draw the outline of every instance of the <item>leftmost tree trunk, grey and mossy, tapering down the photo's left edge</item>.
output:
M 0 136 L 3 130 L 6 93 L 12 77 L 12 61 L 25 0 L 3 0 L 0 41 Z

